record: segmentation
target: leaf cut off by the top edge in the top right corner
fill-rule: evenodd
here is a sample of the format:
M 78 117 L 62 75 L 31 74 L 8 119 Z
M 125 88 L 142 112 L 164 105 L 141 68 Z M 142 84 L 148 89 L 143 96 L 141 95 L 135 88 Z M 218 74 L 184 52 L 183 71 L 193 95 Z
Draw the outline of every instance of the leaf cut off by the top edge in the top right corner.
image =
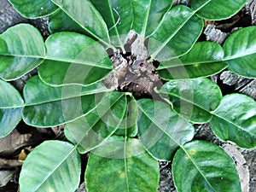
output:
M 235 15 L 247 0 L 191 0 L 196 15 L 207 20 L 224 20 Z

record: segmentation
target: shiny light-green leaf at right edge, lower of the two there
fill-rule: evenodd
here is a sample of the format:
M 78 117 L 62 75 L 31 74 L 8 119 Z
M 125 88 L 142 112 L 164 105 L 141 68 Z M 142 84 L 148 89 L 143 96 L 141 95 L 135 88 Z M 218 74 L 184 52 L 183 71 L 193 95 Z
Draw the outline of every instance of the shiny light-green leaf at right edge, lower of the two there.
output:
M 241 148 L 256 147 L 256 102 L 249 96 L 224 96 L 212 112 L 211 127 L 223 141 L 232 141 Z

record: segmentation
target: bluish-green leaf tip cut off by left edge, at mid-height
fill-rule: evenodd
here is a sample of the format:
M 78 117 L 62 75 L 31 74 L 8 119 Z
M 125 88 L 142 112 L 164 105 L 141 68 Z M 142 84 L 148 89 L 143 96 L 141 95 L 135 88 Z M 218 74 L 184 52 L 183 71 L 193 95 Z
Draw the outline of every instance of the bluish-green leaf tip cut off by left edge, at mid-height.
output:
M 24 103 L 20 93 L 0 80 L 0 138 L 7 136 L 20 122 Z

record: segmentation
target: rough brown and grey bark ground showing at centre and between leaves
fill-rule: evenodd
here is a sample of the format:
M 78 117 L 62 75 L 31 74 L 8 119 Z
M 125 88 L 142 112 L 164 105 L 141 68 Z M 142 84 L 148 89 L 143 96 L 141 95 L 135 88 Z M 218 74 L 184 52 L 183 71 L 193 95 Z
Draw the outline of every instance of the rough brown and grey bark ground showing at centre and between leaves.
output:
M 175 3 L 188 4 L 188 0 L 176 0 Z M 44 38 L 49 36 L 47 30 L 48 18 L 38 20 L 27 20 L 20 16 L 7 0 L 0 2 L 0 34 L 6 31 L 10 26 L 18 23 L 30 23 L 36 26 Z M 251 0 L 241 11 L 224 21 L 207 21 L 204 33 L 200 40 L 215 41 L 223 44 L 239 27 L 256 25 L 256 0 Z M 139 44 L 140 38 L 131 32 L 128 44 Z M 132 46 L 131 46 L 132 47 Z M 148 52 L 144 47 L 140 47 L 140 55 L 136 55 L 137 47 L 131 49 L 131 54 L 125 55 L 116 52 L 112 55 L 114 67 L 118 73 L 111 74 L 105 79 L 105 84 L 113 86 L 116 90 L 132 91 L 137 98 L 150 97 L 154 94 L 153 88 L 160 87 L 162 81 L 157 72 L 154 71 L 157 63 L 148 63 Z M 37 69 L 24 77 L 11 82 L 20 92 L 23 89 L 26 80 L 37 73 Z M 256 80 L 245 79 L 237 76 L 230 71 L 224 71 L 211 77 L 212 81 L 219 85 L 223 95 L 230 93 L 243 93 L 253 97 L 256 100 Z M 17 126 L 15 131 L 8 137 L 0 139 L 0 192 L 18 191 L 18 179 L 22 160 L 39 143 L 49 139 L 63 139 L 63 126 L 50 129 L 37 129 L 25 125 L 23 122 Z M 240 174 L 243 192 L 256 191 L 256 149 L 246 150 L 236 148 L 232 143 L 223 143 L 215 137 L 208 124 L 195 125 L 195 139 L 206 140 L 224 148 L 230 154 L 236 163 Z M 82 156 L 86 160 L 87 156 Z M 85 169 L 85 166 L 84 166 Z M 81 183 L 78 192 L 86 191 L 84 183 Z M 159 192 L 176 191 L 172 182 L 171 163 L 160 162 L 160 185 Z

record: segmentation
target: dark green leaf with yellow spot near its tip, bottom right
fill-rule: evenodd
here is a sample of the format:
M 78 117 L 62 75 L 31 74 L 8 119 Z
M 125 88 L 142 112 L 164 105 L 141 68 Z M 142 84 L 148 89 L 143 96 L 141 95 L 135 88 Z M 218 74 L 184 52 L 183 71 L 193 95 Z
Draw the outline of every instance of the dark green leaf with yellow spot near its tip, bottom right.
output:
M 204 141 L 186 143 L 172 161 L 179 192 L 241 192 L 236 166 L 222 148 Z

